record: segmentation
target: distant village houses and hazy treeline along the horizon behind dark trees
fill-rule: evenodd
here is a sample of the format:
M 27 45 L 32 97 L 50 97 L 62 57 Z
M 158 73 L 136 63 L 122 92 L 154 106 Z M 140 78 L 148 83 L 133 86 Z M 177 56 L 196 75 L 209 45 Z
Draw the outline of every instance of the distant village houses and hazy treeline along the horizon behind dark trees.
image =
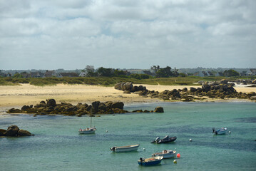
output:
M 234 70 L 239 73 L 240 76 L 256 76 L 256 68 L 180 68 L 171 69 L 176 71 L 178 76 L 224 76 L 224 72 L 227 70 Z M 124 71 L 127 76 L 130 74 L 147 74 L 149 76 L 155 76 L 156 70 L 151 67 L 150 69 L 117 69 L 118 71 Z M 88 71 L 94 71 L 93 66 L 86 66 L 84 69 L 76 70 L 0 70 L 0 77 L 13 77 L 19 73 L 21 78 L 48 78 L 48 77 L 88 77 Z M 97 71 L 97 70 L 95 70 Z

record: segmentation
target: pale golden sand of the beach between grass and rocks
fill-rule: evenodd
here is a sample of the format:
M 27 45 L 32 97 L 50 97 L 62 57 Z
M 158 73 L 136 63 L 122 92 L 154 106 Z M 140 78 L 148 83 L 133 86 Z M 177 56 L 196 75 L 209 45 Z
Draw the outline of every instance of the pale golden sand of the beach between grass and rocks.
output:
M 201 86 L 146 86 L 148 90 L 173 90 L 183 88 L 198 88 Z M 256 88 L 237 87 L 238 92 L 249 93 L 256 92 Z M 48 98 L 56 99 L 57 103 L 91 103 L 93 101 L 122 101 L 123 103 L 150 103 L 159 102 L 157 98 L 145 98 L 138 94 L 125 94 L 121 90 L 115 90 L 113 87 L 103 86 L 84 86 L 84 85 L 64 85 L 57 86 L 31 86 L 22 84 L 22 86 L 0 86 L 0 108 L 21 107 L 23 105 L 36 105 L 41 100 Z

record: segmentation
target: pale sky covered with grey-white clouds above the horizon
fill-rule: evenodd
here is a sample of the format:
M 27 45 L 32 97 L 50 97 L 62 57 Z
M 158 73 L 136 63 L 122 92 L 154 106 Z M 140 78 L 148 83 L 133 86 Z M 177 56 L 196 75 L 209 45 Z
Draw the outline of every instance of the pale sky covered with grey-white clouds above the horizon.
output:
M 0 0 L 0 70 L 256 68 L 255 0 Z

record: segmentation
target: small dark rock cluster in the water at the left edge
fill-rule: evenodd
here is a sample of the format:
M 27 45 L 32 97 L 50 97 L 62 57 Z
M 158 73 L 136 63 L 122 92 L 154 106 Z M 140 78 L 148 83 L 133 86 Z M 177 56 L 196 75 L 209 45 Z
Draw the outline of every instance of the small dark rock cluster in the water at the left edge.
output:
M 29 133 L 27 130 L 21 130 L 16 125 L 11 125 L 7 128 L 7 130 L 0 129 L 0 137 L 21 137 L 21 136 L 31 136 L 33 134 Z

